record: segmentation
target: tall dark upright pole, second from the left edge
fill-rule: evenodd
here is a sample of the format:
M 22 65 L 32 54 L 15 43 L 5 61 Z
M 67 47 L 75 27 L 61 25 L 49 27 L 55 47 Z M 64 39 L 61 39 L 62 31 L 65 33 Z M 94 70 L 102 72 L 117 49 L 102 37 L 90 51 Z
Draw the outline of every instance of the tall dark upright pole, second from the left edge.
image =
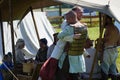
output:
M 9 0 L 9 16 L 10 16 L 10 26 L 11 26 L 11 43 L 12 43 L 12 53 L 13 53 L 13 62 L 16 64 L 15 58 L 15 46 L 14 46 L 14 29 L 13 29 L 13 10 L 12 10 L 12 0 Z

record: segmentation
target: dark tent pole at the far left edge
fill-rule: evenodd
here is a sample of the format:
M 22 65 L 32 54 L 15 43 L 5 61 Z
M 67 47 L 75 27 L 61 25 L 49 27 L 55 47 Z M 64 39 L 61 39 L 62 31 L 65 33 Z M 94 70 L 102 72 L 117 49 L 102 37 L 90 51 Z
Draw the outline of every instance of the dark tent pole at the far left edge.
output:
M 4 29 L 3 29 L 3 23 L 2 23 L 2 13 L 0 9 L 0 27 L 1 27 L 1 36 L 2 36 L 2 50 L 3 50 L 3 56 L 5 55 L 5 45 L 4 45 Z

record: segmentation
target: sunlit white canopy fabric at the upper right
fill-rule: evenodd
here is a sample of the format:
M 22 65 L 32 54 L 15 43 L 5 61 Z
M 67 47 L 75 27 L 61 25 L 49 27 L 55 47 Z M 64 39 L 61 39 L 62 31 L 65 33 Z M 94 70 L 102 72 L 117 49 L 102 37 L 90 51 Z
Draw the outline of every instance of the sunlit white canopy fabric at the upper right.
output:
M 56 0 L 72 5 L 99 11 L 115 18 L 120 22 L 120 0 Z M 109 6 L 108 6 L 109 5 Z

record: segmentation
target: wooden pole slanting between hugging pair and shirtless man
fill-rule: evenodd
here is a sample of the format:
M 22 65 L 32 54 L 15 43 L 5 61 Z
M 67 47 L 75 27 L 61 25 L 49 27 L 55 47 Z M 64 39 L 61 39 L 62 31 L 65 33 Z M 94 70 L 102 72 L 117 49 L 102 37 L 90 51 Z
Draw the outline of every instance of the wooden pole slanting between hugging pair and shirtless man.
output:
M 98 40 L 98 46 L 96 46 L 96 52 L 95 52 L 95 55 L 94 55 L 94 60 L 93 60 L 93 63 L 92 63 L 92 68 L 91 68 L 91 72 L 90 72 L 90 77 L 89 77 L 89 80 L 92 80 L 92 74 L 93 74 L 93 70 L 94 70 L 94 65 L 95 65 L 95 62 L 96 62 L 96 59 L 97 59 L 97 54 L 98 54 L 98 50 L 100 48 L 100 42 L 102 41 L 102 34 L 103 34 L 103 25 L 102 25 L 102 18 L 101 18 L 101 13 L 99 13 L 99 22 L 100 22 L 100 35 L 99 35 L 99 40 Z

